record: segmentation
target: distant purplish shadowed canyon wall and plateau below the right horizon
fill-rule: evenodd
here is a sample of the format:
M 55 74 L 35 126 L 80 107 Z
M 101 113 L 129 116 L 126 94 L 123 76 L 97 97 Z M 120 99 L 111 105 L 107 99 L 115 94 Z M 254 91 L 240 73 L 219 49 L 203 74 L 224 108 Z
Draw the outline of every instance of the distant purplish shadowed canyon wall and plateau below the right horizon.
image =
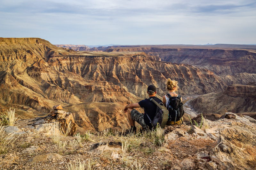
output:
M 190 64 L 212 71 L 226 84 L 246 84 L 255 81 L 256 46 L 216 44 L 115 46 L 106 51 L 143 51 L 162 61 Z

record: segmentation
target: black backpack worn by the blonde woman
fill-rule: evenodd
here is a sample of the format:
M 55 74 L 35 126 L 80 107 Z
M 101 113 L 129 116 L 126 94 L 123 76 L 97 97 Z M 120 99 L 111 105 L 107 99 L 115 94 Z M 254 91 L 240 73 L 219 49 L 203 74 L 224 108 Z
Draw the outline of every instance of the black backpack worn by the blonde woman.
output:
M 180 94 L 177 97 L 172 97 L 170 94 L 166 94 L 169 97 L 167 109 L 169 110 L 168 121 L 177 122 L 184 115 L 183 103 L 181 102 Z

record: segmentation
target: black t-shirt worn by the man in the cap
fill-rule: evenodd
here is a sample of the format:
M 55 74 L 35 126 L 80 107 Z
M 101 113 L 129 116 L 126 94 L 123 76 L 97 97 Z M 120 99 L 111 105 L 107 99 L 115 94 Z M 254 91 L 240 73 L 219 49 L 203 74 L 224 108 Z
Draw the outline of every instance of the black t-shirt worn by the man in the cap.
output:
M 162 100 L 158 99 L 157 97 L 153 96 L 150 97 L 154 100 L 156 100 L 157 103 L 161 103 Z M 140 107 L 144 108 L 144 121 L 148 126 L 152 126 L 150 122 L 150 120 L 148 119 L 148 116 L 150 117 L 151 121 L 153 121 L 154 117 L 156 116 L 156 109 L 157 106 L 155 103 L 153 103 L 152 101 L 145 99 L 145 100 L 141 100 L 139 101 L 139 105 Z M 147 115 L 146 115 L 147 113 Z

